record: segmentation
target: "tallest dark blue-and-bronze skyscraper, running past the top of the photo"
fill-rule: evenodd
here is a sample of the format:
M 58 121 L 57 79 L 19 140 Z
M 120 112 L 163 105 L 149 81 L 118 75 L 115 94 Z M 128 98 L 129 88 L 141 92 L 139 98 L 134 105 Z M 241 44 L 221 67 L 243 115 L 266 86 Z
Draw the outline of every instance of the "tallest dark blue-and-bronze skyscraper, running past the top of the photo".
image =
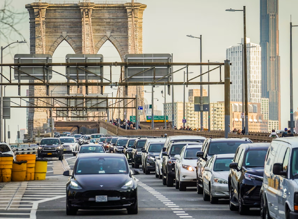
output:
M 262 97 L 269 98 L 269 119 L 280 125 L 278 0 L 260 0 Z

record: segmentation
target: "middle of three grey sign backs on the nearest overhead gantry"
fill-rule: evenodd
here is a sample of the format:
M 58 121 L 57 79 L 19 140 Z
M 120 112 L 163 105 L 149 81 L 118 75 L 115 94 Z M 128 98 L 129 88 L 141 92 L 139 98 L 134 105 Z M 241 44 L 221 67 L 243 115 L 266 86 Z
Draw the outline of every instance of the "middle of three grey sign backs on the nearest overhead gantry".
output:
M 67 54 L 66 63 L 103 62 L 101 54 Z M 103 76 L 102 66 L 66 66 L 66 76 L 75 80 L 102 80 L 97 75 Z M 84 71 L 86 69 L 89 72 Z M 92 73 L 94 74 L 92 74 Z

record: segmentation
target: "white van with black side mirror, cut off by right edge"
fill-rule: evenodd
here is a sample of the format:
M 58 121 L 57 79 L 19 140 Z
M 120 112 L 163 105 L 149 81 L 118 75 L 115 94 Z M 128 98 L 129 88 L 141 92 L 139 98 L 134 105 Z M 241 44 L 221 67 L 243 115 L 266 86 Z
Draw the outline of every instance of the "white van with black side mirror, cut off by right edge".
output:
M 261 218 L 298 218 L 298 137 L 271 142 L 263 177 Z

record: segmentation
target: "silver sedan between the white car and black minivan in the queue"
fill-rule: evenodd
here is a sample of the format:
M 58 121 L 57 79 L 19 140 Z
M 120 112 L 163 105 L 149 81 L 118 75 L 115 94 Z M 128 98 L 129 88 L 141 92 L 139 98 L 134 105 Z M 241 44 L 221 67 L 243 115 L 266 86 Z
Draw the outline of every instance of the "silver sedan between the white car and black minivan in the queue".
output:
M 217 204 L 218 199 L 229 199 L 229 170 L 235 154 L 215 154 L 202 173 L 203 199 Z

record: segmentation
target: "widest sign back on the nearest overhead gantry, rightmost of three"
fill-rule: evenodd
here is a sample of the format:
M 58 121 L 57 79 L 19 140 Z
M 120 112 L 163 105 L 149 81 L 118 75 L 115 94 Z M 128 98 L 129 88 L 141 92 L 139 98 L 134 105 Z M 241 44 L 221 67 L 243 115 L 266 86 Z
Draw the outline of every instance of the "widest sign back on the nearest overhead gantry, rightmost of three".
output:
M 127 63 L 146 63 L 146 62 L 172 62 L 170 54 L 126 54 L 124 56 Z M 153 82 L 170 73 L 171 66 L 125 66 L 125 78 L 131 77 L 126 82 Z M 152 68 L 152 69 L 150 69 Z M 149 69 L 149 70 L 147 70 Z M 147 70 L 147 71 L 145 71 Z M 143 72 L 144 71 L 144 72 Z M 138 74 L 143 72 L 141 74 Z M 134 76 L 135 75 L 135 76 Z M 169 82 L 171 77 L 164 77 L 161 82 Z

